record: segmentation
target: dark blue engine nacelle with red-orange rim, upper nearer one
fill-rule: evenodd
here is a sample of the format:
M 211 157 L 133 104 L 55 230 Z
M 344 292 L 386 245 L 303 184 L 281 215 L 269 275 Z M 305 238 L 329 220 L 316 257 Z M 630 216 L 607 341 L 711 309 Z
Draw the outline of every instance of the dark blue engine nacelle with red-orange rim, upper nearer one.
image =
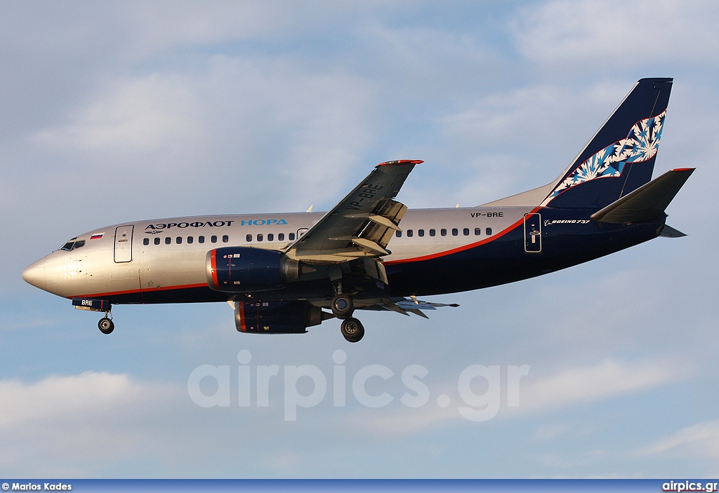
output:
M 299 263 L 276 250 L 215 248 L 207 253 L 207 284 L 229 293 L 268 291 L 298 278 Z

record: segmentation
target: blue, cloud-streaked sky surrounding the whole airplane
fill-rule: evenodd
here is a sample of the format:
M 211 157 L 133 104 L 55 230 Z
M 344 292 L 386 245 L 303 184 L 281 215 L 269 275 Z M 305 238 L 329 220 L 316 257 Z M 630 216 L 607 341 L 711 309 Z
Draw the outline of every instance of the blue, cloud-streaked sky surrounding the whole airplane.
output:
M 0 476 L 719 476 L 718 18 L 713 0 L 2 2 Z M 425 161 L 410 208 L 539 187 L 644 77 L 674 78 L 655 176 L 697 167 L 667 210 L 687 237 L 434 296 L 460 306 L 429 320 L 362 314 L 359 344 L 336 320 L 239 334 L 226 304 L 116 306 L 106 336 L 21 278 L 104 225 L 329 210 L 391 159 Z

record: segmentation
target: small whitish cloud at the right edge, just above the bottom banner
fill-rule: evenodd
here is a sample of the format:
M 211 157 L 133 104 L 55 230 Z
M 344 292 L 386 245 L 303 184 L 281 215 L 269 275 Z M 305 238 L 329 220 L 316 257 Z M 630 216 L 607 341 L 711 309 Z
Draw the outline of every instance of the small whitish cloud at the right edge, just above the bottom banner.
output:
M 719 459 L 719 420 L 697 423 L 637 451 L 638 455 L 676 454 Z

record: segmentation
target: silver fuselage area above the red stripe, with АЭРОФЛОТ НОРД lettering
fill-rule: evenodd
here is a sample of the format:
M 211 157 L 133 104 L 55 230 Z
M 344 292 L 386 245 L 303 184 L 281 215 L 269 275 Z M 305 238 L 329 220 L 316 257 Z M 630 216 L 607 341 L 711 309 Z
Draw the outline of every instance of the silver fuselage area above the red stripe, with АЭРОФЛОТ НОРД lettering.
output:
M 402 232 L 390 240 L 391 254 L 383 260 L 406 262 L 484 243 L 516 225 L 526 212 L 526 207 L 408 210 Z M 55 250 L 29 266 L 23 276 L 65 298 L 207 286 L 208 250 L 222 246 L 284 250 L 323 215 L 195 216 L 111 225 L 78 235 L 73 241 L 84 240 L 81 248 Z

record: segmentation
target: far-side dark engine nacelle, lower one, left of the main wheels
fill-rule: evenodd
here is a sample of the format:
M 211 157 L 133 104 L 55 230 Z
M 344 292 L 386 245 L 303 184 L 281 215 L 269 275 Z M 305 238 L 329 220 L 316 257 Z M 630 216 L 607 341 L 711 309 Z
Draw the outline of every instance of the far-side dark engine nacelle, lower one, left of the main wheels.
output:
M 239 332 L 303 334 L 332 315 L 306 301 L 235 301 L 234 323 Z

